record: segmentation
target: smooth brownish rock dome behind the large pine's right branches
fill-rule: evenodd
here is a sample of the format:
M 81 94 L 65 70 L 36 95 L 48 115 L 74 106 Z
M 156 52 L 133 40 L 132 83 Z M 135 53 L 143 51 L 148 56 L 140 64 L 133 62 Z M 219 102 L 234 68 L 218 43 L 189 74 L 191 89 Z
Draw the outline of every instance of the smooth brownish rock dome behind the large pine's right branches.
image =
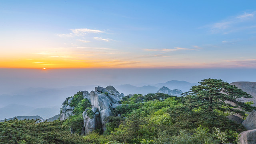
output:
M 254 102 L 252 106 L 256 106 L 256 82 L 232 82 L 230 83 L 244 92 L 250 94 L 253 98 L 238 98 L 240 102 Z

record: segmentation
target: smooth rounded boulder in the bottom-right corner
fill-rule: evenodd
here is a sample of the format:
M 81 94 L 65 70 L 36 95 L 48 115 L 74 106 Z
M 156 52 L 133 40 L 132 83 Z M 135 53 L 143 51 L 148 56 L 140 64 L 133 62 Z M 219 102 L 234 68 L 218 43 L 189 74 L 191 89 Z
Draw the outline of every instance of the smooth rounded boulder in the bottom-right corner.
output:
M 240 144 L 256 144 L 256 129 L 241 132 L 238 137 Z

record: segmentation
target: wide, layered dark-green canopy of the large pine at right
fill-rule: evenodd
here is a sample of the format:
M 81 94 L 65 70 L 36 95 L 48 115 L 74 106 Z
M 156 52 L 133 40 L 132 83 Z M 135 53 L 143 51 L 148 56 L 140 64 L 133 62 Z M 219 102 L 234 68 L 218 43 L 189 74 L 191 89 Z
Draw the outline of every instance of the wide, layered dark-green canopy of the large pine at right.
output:
M 220 110 L 222 112 L 234 112 L 244 115 L 243 109 L 252 111 L 254 107 L 249 104 L 239 102 L 237 98 L 252 98 L 249 94 L 234 85 L 217 79 L 204 79 L 198 82 L 200 85 L 192 86 L 190 93 L 184 95 L 188 98 L 191 107 L 200 107 L 205 112 Z

